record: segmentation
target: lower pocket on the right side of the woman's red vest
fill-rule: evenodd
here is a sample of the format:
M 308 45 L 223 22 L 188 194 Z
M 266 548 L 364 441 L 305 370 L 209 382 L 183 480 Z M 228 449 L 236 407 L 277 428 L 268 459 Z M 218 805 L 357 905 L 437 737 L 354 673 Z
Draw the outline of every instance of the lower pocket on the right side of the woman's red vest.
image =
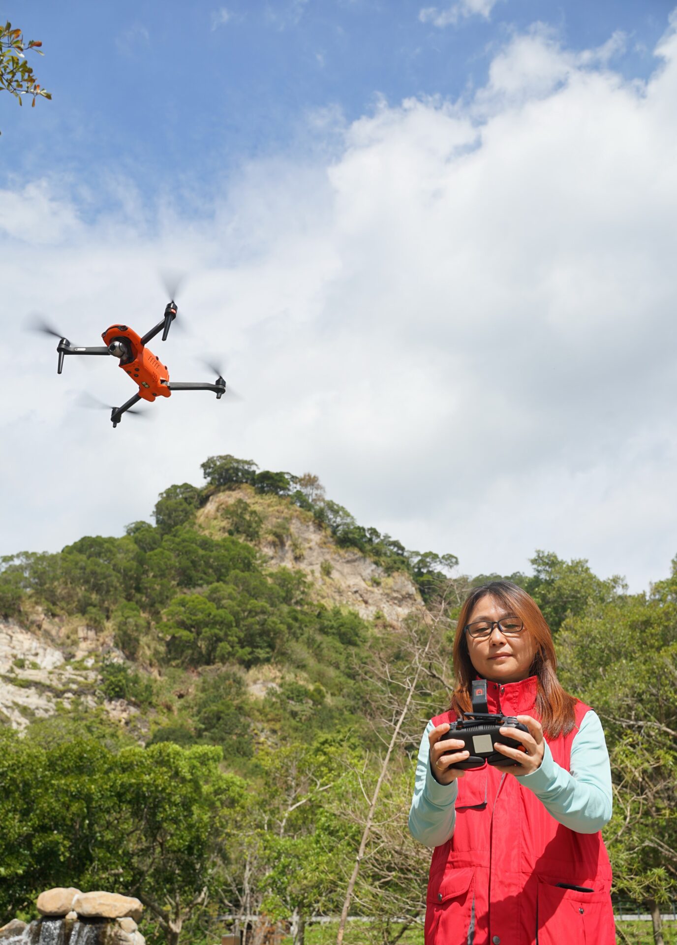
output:
M 578 892 L 539 881 L 536 943 L 562 945 L 567 941 L 576 945 L 616 942 L 611 896 L 605 891 Z

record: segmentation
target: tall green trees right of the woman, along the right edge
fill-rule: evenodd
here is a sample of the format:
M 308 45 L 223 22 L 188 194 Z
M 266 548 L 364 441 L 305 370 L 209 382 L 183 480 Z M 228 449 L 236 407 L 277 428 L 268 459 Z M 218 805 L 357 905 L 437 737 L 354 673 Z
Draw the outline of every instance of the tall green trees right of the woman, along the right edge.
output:
M 617 893 L 661 906 L 677 893 L 677 574 L 651 596 L 617 596 L 569 616 L 558 637 L 567 687 L 600 714 L 614 781 L 604 830 Z

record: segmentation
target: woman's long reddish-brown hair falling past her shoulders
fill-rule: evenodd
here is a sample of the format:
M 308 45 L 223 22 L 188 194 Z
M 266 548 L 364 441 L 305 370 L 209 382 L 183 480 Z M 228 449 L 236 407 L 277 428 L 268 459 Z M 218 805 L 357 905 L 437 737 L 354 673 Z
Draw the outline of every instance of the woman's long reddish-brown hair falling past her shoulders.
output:
M 451 694 L 449 709 L 460 717 L 461 713 L 471 712 L 470 685 L 477 677 L 477 672 L 467 649 L 465 625 L 473 608 L 482 597 L 496 597 L 503 606 L 514 613 L 524 624 L 523 633 L 529 633 L 535 644 L 535 653 L 530 675 L 537 679 L 536 713 L 543 730 L 550 738 L 567 735 L 574 727 L 573 696 L 569 696 L 557 679 L 557 657 L 555 656 L 552 634 L 546 619 L 538 605 L 523 588 L 511 581 L 490 581 L 472 591 L 458 618 L 456 636 L 453 643 L 453 668 L 456 676 L 456 688 Z

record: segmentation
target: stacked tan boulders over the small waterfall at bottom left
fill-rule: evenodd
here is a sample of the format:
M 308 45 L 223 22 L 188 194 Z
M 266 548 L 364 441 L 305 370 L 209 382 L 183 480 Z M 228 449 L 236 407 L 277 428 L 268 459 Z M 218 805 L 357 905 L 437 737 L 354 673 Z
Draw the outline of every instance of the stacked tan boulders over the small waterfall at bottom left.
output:
M 36 905 L 42 919 L 31 922 L 30 929 L 36 926 L 35 932 L 39 933 L 42 921 L 61 919 L 65 945 L 80 941 L 96 945 L 145 945 L 137 926 L 144 911 L 138 899 L 112 892 L 80 892 L 69 887 L 42 892 Z M 84 926 L 96 926 L 96 935 L 84 934 Z M 13 919 L 0 929 L 0 942 L 20 939 L 25 929 L 25 922 Z M 28 934 L 27 940 L 40 941 L 41 937 Z

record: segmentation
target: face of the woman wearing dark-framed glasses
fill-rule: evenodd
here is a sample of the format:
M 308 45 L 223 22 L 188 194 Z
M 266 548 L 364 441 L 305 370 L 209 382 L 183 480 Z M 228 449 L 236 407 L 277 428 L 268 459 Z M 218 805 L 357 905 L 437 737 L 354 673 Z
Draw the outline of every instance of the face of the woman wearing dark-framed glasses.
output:
M 502 620 L 513 615 L 496 597 L 488 594 L 480 598 L 471 610 L 468 624 L 476 620 Z M 470 661 L 480 679 L 493 682 L 518 682 L 527 679 L 533 662 L 534 645 L 528 627 L 514 637 L 505 636 L 494 627 L 491 636 L 477 640 L 465 633 Z

